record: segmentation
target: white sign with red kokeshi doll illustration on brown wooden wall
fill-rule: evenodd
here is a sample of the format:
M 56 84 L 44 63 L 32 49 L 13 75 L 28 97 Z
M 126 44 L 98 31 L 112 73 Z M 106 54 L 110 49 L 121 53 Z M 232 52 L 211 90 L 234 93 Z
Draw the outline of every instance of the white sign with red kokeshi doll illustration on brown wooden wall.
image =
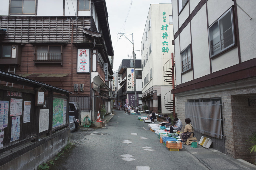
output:
M 78 73 L 90 72 L 90 50 L 89 49 L 78 49 L 77 72 Z

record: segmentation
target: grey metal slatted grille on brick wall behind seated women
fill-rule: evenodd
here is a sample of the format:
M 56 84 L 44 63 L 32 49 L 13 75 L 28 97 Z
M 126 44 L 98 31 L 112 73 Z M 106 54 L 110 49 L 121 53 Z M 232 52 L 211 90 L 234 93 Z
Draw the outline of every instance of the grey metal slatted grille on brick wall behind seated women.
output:
M 186 118 L 191 119 L 195 131 L 222 139 L 222 113 L 220 101 L 185 103 Z

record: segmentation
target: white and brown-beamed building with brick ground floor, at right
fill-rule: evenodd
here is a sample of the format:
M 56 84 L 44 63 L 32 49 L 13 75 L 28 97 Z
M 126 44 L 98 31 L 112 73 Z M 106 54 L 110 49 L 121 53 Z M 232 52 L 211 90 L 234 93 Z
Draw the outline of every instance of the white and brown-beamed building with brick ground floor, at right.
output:
M 246 140 L 256 128 L 256 2 L 172 3 L 179 119 L 191 119 L 197 140 L 254 163 Z

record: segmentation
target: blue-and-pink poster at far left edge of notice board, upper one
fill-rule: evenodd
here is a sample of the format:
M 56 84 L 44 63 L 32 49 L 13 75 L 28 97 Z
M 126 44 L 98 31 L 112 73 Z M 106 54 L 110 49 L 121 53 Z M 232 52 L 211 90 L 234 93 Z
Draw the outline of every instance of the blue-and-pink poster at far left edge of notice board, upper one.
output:
M 0 101 L 0 128 L 7 127 L 9 101 Z

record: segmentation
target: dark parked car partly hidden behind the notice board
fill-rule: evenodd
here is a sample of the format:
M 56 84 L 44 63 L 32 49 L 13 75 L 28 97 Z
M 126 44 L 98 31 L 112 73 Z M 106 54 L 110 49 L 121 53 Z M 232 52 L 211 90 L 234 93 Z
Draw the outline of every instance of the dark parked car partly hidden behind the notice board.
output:
M 75 130 L 77 130 L 81 124 L 81 108 L 78 102 L 69 102 L 69 115 L 74 116 Z

